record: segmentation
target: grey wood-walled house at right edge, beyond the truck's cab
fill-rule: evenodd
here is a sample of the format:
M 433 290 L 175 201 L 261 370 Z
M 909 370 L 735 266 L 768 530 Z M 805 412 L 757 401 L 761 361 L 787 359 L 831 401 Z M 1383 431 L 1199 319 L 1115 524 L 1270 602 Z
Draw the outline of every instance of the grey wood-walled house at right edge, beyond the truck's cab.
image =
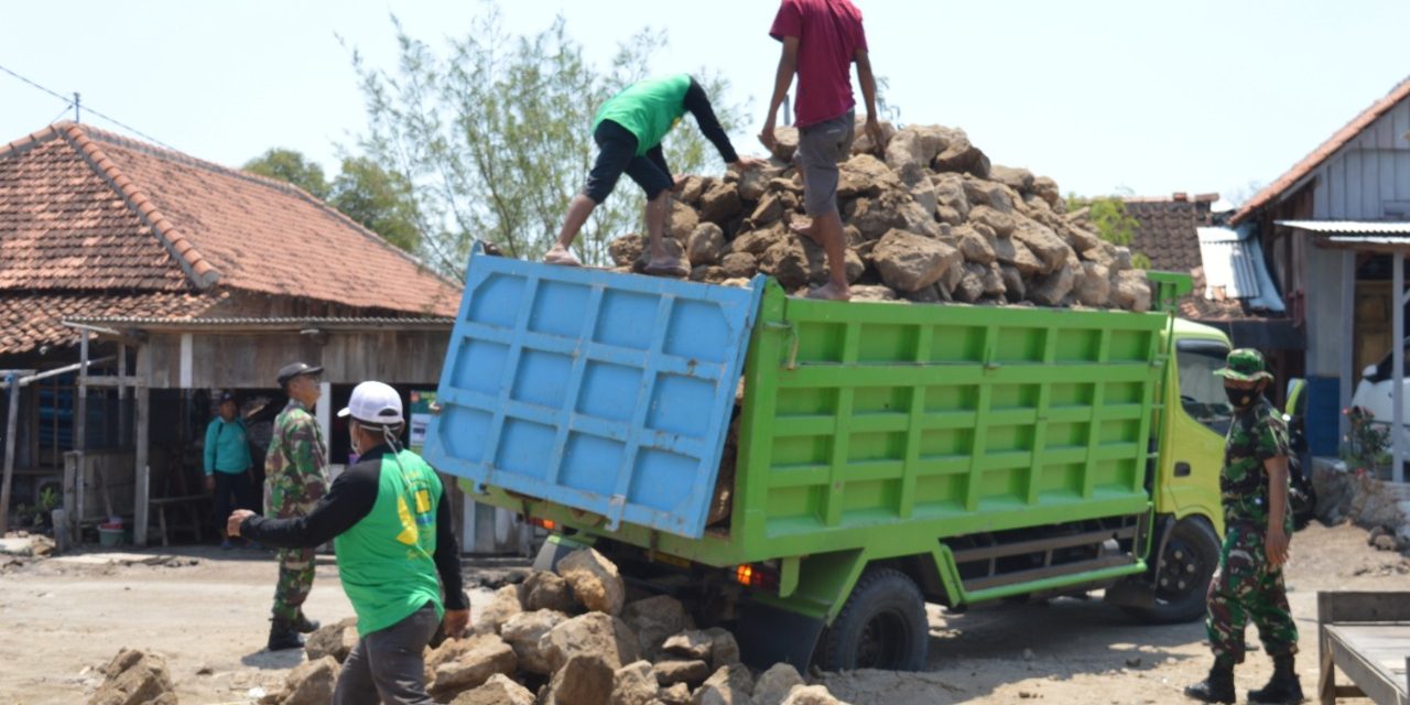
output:
M 1347 429 L 1340 412 L 1361 369 L 1404 338 L 1410 79 L 1255 195 L 1231 223 L 1258 233 L 1292 316 L 1306 321 L 1308 441 L 1316 454 L 1335 455 Z

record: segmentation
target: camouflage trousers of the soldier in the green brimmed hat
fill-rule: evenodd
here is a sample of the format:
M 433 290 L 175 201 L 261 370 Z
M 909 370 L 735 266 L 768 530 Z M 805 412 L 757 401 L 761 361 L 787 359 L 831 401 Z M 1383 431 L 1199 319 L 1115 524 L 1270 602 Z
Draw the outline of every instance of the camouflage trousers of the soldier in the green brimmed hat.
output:
M 1253 526 L 1230 526 L 1225 532 L 1204 622 L 1218 664 L 1244 663 L 1244 627 L 1249 620 L 1258 626 L 1269 656 L 1297 653 L 1297 625 L 1287 608 L 1283 568 L 1268 564 L 1263 536 L 1263 529 Z

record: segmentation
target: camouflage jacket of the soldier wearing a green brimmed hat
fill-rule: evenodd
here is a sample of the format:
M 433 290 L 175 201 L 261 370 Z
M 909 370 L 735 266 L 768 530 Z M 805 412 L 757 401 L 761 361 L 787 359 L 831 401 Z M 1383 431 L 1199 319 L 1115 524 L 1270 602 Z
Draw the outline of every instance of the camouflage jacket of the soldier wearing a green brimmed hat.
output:
M 1224 523 L 1268 526 L 1268 468 L 1263 461 L 1287 457 L 1287 427 L 1283 416 L 1259 398 L 1252 407 L 1235 412 L 1224 440 L 1224 470 L 1220 492 L 1224 498 Z M 1285 512 L 1292 533 L 1292 512 Z

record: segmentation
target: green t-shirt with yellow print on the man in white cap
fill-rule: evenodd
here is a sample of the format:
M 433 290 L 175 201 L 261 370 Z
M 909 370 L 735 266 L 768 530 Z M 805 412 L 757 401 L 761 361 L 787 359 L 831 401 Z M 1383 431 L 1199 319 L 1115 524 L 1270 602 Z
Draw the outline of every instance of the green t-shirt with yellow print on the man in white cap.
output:
M 440 478 L 420 455 L 409 450 L 382 455 L 372 510 L 334 543 L 358 636 L 406 619 L 427 601 L 436 603 L 439 616 L 446 615 L 433 558 L 441 491 Z

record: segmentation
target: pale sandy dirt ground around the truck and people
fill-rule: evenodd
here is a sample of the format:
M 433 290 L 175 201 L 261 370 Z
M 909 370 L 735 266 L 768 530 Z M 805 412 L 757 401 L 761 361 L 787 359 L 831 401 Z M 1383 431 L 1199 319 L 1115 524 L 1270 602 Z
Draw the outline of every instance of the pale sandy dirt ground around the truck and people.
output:
M 1410 560 L 1366 546 L 1352 526 L 1313 525 L 1293 540 L 1289 591 L 1301 629 L 1303 687 L 1317 681 L 1320 589 L 1410 589 Z M 82 702 L 97 667 L 123 646 L 166 657 L 185 704 L 245 704 L 275 689 L 302 651 L 264 651 L 274 592 L 271 554 L 219 548 L 83 553 L 41 561 L 0 557 L 0 705 Z M 485 571 L 468 567 L 471 580 Z M 488 598 L 472 591 L 472 609 Z M 351 616 L 331 557 L 320 560 L 307 613 Z M 1001 603 L 932 612 L 931 670 L 829 674 L 854 705 L 1175 704 L 1210 664 L 1198 623 L 1141 626 L 1100 599 Z M 1249 630 L 1256 643 L 1255 632 Z M 1252 653 L 1239 691 L 1272 673 Z M 1351 702 L 1351 701 L 1348 701 Z

